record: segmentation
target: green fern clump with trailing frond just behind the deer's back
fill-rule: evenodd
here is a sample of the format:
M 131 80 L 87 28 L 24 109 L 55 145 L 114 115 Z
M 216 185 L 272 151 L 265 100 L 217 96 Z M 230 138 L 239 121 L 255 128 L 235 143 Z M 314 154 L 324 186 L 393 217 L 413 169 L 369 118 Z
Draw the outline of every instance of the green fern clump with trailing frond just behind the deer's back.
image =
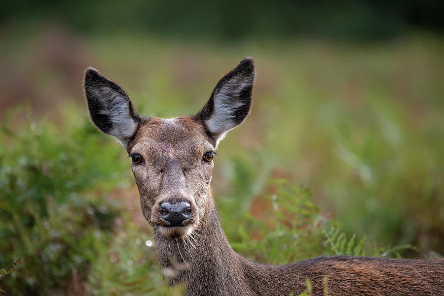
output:
M 312 203 L 310 190 L 278 180 L 276 194 L 265 197 L 267 209 L 258 219 L 245 214 L 239 224 L 239 241 L 231 240 L 233 248 L 258 262 L 284 264 L 320 255 L 366 256 L 366 236 L 356 243 L 326 220 Z M 417 248 L 407 244 L 392 247 L 369 246 L 372 257 L 398 257 L 404 250 Z

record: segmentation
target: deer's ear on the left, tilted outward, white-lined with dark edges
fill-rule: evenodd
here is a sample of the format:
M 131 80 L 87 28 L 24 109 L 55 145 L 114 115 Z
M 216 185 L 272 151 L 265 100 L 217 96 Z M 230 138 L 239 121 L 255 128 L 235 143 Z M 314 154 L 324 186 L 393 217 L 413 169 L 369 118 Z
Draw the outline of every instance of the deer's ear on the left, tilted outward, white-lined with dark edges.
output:
M 127 148 L 141 122 L 128 95 L 94 68 L 86 69 L 84 86 L 92 122 Z

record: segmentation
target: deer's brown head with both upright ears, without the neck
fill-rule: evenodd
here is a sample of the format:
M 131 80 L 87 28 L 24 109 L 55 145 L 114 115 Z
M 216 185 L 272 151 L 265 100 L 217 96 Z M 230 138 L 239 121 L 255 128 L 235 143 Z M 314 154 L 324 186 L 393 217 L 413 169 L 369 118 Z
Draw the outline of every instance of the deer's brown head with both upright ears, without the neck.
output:
M 86 70 L 91 120 L 132 158 L 142 212 L 165 237 L 186 237 L 202 223 L 215 150 L 250 112 L 254 78 L 253 59 L 245 58 L 222 77 L 195 115 L 162 119 L 139 115 L 120 86 L 94 68 Z

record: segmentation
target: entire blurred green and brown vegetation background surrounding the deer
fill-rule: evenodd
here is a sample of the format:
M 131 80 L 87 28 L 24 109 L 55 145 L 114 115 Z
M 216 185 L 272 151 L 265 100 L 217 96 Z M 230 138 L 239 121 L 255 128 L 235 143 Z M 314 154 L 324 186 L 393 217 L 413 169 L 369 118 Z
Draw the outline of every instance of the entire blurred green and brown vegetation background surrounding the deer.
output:
M 245 257 L 441 257 L 443 13 L 432 0 L 2 1 L 0 289 L 181 293 L 155 263 L 124 149 L 89 122 L 87 66 L 141 114 L 174 117 L 255 58 L 252 112 L 212 182 Z

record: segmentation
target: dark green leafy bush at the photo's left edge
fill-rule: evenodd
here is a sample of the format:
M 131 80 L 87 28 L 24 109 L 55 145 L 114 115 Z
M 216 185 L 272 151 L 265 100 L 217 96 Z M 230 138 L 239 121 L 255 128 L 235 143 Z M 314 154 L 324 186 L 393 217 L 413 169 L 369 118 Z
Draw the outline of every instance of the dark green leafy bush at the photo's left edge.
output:
M 105 197 L 116 180 L 117 147 L 86 121 L 66 135 L 46 121 L 11 127 L 2 125 L 0 135 L 7 144 L 0 151 L 0 266 L 23 263 L 5 290 L 66 291 L 73 277 L 86 279 L 97 246 L 114 236 L 121 210 Z

